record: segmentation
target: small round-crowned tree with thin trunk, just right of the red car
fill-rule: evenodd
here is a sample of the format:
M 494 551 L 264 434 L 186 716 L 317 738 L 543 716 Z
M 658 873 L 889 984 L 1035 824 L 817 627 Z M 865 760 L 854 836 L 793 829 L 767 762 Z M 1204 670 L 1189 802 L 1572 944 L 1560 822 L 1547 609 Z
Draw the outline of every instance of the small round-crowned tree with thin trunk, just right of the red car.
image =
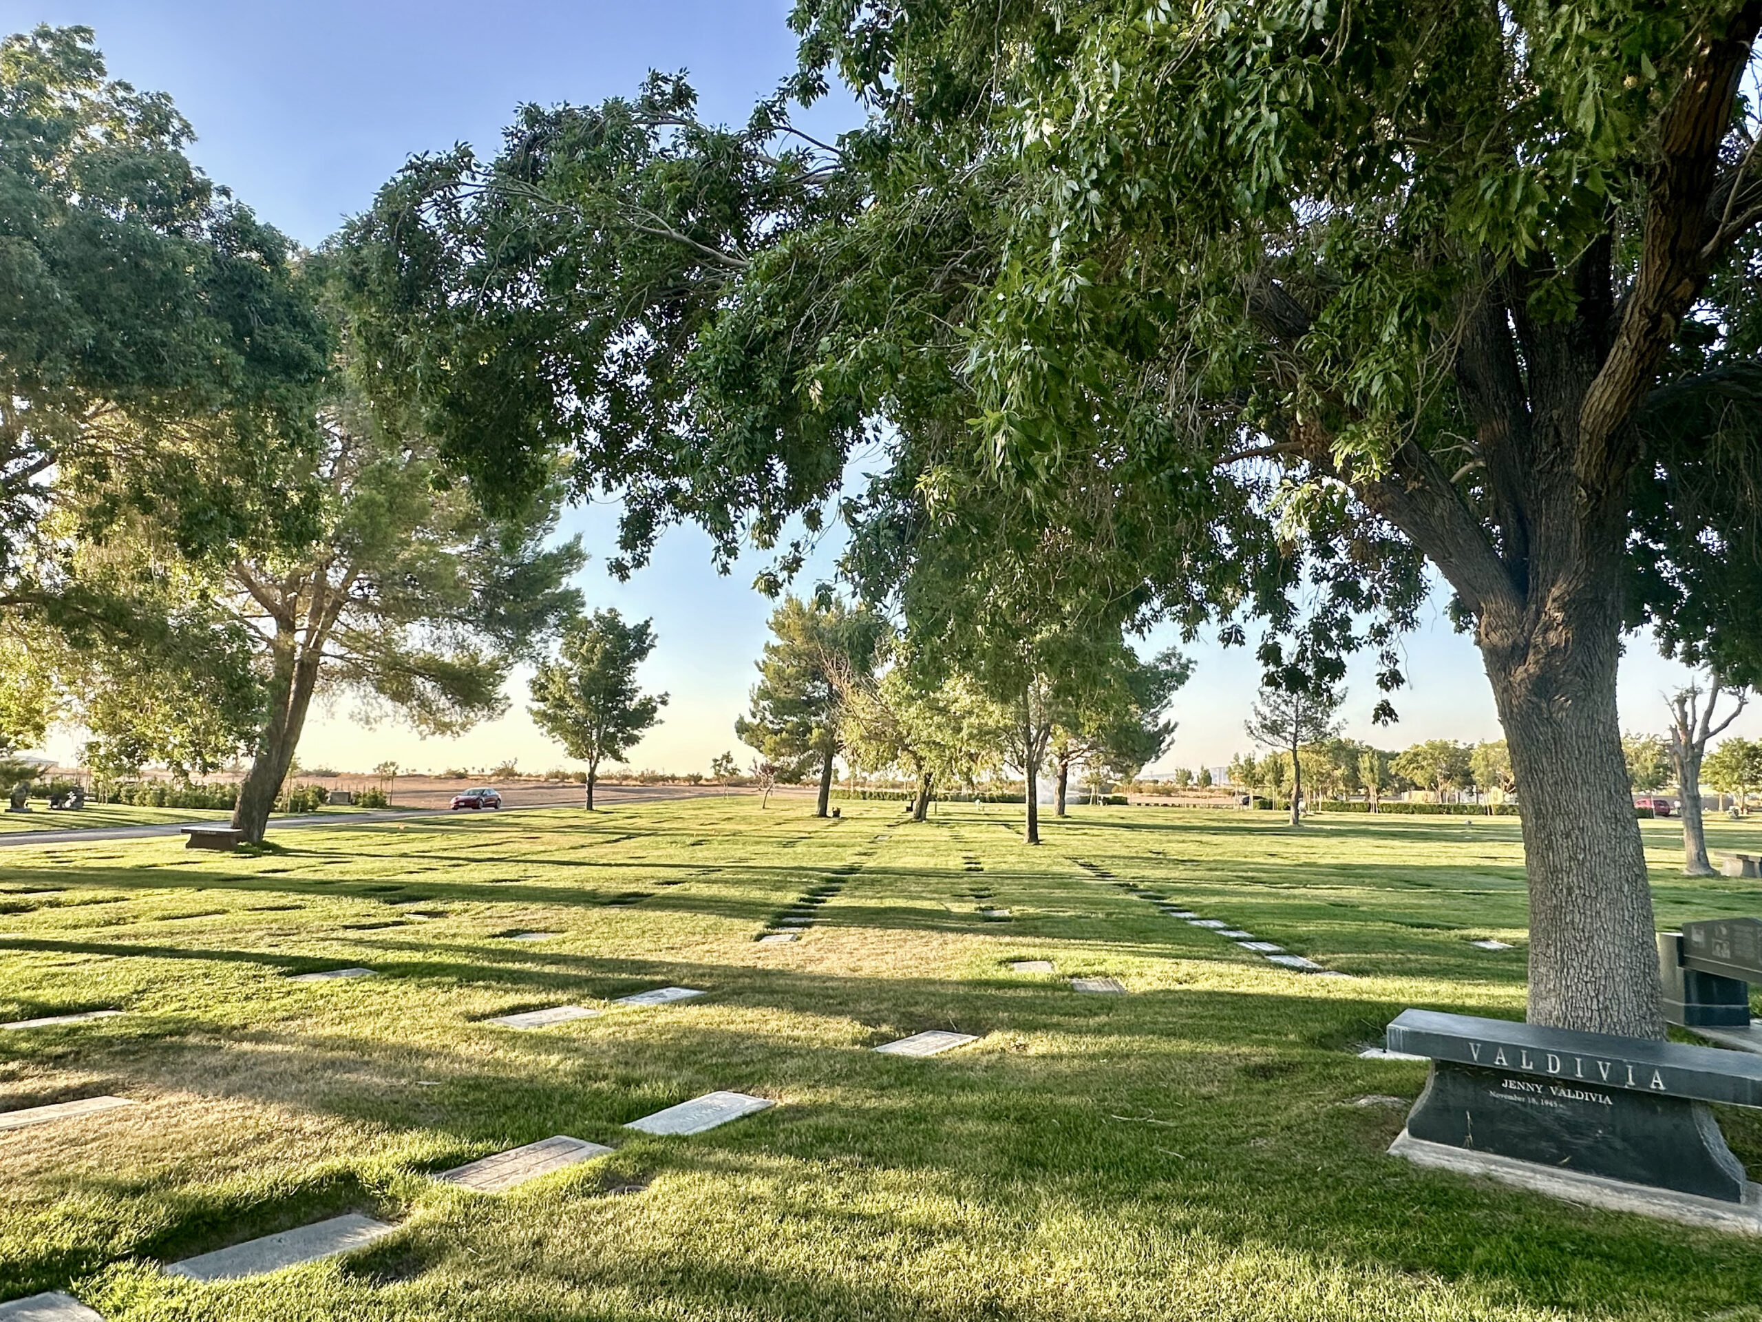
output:
M 587 811 L 604 758 L 618 761 L 661 719 L 668 694 L 643 693 L 636 666 L 655 649 L 650 620 L 626 622 L 615 610 L 596 610 L 562 626 L 553 661 L 532 677 L 532 719 L 587 763 Z

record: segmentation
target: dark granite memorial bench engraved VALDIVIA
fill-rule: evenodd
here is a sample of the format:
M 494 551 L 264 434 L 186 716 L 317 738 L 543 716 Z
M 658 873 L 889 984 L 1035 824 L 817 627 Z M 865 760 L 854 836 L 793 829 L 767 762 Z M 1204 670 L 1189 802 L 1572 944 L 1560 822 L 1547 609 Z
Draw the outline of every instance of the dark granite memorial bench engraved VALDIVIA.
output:
M 1762 1229 L 1709 1102 L 1762 1107 L 1762 1058 L 1404 1010 L 1388 1049 L 1433 1061 L 1388 1151 L 1679 1220 Z

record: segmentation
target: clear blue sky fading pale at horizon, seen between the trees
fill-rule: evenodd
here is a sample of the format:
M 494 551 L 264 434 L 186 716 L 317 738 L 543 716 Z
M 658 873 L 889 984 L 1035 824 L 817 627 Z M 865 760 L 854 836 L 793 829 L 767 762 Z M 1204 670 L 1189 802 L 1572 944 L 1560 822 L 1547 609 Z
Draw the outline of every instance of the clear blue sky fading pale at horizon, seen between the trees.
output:
M 648 69 L 687 69 L 712 118 L 738 120 L 788 72 L 795 41 L 784 0 L 0 0 L 7 32 L 37 23 L 97 30 L 111 76 L 169 92 L 196 125 L 196 160 L 259 215 L 305 243 L 363 210 L 412 153 L 469 141 L 493 150 L 520 102 L 596 102 L 636 88 Z M 816 111 L 819 127 L 848 122 L 848 102 Z M 654 564 L 631 583 L 604 573 L 615 511 L 573 511 L 571 532 L 596 552 L 581 587 L 594 605 L 652 615 L 661 645 L 645 680 L 671 693 L 666 723 L 633 754 L 636 765 L 707 769 L 735 746 L 752 659 L 765 642 L 768 603 L 749 583 L 759 557 L 731 576 L 710 569 L 708 543 L 670 532 Z M 821 568 L 832 546 L 818 557 Z M 812 576 L 812 568 L 811 568 Z M 1369 724 L 1376 693 L 1355 666 L 1348 732 L 1399 747 L 1418 739 L 1496 739 L 1492 698 L 1473 645 L 1438 610 L 1408 640 L 1411 687 L 1397 696 L 1403 721 Z M 1159 647 L 1172 638 L 1152 636 Z M 1246 747 L 1242 719 L 1256 668 L 1247 652 L 1202 640 L 1193 682 L 1179 696 L 1177 740 L 1165 765 L 1218 765 Z M 1662 691 L 1683 672 L 1630 640 L 1621 675 L 1623 723 L 1662 726 Z M 421 740 L 395 724 L 365 730 L 347 700 L 314 714 L 301 747 L 307 765 L 358 769 L 388 756 L 414 769 L 481 767 L 516 758 L 525 769 L 560 765 L 523 716 L 525 677 L 511 677 L 513 712 L 458 739 Z M 1736 732 L 1762 733 L 1762 710 Z M 65 751 L 58 747 L 56 751 Z M 737 753 L 745 756 L 744 749 Z

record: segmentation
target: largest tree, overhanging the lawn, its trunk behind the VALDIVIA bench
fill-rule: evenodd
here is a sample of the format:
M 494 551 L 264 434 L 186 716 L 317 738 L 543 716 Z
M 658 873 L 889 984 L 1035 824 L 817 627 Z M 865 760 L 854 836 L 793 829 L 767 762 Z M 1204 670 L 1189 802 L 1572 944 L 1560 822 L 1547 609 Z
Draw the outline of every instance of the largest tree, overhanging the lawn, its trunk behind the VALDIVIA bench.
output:
M 1429 559 L 1524 786 L 1531 1019 L 1660 1033 L 1614 675 L 1647 619 L 1762 661 L 1762 4 L 793 21 L 793 90 L 869 109 L 826 150 L 668 85 L 405 173 L 358 271 L 388 390 L 460 453 L 520 423 L 483 465 L 564 449 L 633 490 L 638 552 L 673 516 L 777 536 L 885 420 L 918 529 L 1080 529 L 1186 624 L 1277 631 L 1320 587 L 1387 654 Z

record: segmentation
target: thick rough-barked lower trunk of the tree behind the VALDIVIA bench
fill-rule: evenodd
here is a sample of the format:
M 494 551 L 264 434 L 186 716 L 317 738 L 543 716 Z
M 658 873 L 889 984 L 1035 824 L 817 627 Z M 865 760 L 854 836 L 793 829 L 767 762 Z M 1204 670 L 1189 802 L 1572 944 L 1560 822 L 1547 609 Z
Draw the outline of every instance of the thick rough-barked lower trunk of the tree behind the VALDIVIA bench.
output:
M 1614 592 L 1482 615 L 1477 642 L 1522 795 L 1529 1022 L 1663 1036 L 1651 883 L 1616 714 Z

